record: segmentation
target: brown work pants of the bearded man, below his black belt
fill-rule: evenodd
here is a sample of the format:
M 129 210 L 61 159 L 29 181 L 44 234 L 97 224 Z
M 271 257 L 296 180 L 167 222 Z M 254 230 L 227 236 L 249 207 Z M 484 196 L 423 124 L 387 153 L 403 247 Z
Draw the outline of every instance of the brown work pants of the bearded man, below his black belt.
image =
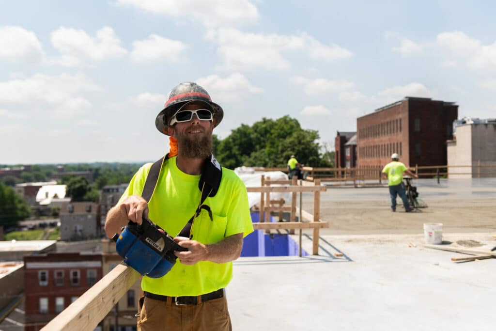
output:
M 232 331 L 226 296 L 197 305 L 176 306 L 142 297 L 137 331 Z

